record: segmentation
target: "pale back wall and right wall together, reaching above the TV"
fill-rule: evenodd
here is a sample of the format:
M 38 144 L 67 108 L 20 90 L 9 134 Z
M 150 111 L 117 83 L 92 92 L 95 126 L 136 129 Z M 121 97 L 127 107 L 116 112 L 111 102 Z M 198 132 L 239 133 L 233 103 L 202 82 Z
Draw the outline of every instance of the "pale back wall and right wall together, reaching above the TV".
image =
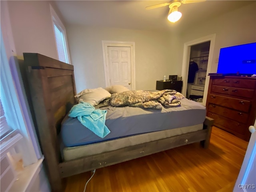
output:
M 76 89 L 104 87 L 102 40 L 135 42 L 136 89 L 155 89 L 156 80 L 181 75 L 184 43 L 216 34 L 212 72 L 220 48 L 256 41 L 256 2 L 233 10 L 183 33 L 149 32 L 117 28 L 66 26 Z

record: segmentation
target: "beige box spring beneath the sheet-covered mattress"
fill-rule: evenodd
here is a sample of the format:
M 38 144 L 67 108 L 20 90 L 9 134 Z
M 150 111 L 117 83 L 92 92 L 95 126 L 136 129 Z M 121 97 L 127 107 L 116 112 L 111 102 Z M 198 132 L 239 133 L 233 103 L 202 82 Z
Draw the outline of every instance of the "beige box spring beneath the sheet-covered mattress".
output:
M 74 160 L 81 157 L 100 154 L 102 152 L 113 151 L 113 150 L 121 149 L 127 146 L 134 146 L 134 145 L 151 142 L 154 140 L 169 138 L 172 136 L 181 135 L 188 132 L 194 132 L 202 129 L 203 129 L 203 124 L 198 124 L 198 125 L 187 126 L 182 128 L 128 136 L 124 138 L 108 140 L 108 141 L 88 144 L 84 146 L 64 147 L 62 145 L 61 146 L 62 159 L 64 161 Z

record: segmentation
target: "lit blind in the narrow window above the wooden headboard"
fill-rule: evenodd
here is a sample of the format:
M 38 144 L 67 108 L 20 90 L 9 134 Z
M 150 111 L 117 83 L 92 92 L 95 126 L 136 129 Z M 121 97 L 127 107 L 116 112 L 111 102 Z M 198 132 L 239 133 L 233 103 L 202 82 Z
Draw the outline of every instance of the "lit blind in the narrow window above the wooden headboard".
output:
M 59 28 L 55 24 L 54 24 L 54 33 L 55 33 L 59 60 L 66 63 L 67 62 L 66 51 L 65 51 L 66 48 L 65 48 L 63 33 L 59 30 Z

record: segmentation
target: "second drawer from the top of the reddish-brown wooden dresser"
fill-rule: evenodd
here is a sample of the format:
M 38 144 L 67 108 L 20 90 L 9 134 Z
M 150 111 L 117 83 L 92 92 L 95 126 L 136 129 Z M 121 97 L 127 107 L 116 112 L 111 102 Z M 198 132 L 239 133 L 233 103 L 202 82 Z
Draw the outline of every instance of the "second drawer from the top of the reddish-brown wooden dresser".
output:
M 227 94 L 232 96 L 246 97 L 246 98 L 253 98 L 253 95 L 254 95 L 254 90 L 252 89 L 242 89 L 242 88 L 234 88 L 234 87 L 219 86 L 219 85 L 213 85 L 212 92 Z

